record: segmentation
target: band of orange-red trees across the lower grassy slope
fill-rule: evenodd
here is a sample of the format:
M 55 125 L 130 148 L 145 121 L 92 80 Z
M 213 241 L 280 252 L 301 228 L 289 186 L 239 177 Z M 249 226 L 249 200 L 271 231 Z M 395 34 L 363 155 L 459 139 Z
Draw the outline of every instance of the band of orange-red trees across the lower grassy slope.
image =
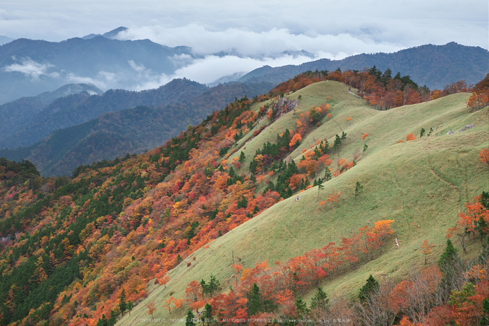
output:
M 207 298 L 207 302 L 219 319 L 231 320 L 251 316 L 297 317 L 295 296 L 307 292 L 328 276 L 334 276 L 345 268 L 356 267 L 362 262 L 373 259 L 381 253 L 385 239 L 393 232 L 393 221 L 377 221 L 372 228 L 362 228 L 350 238 L 342 238 L 341 244 L 330 242 L 319 249 L 307 251 L 304 255 L 293 257 L 283 264 L 268 261 L 258 262 L 254 267 L 244 268 L 233 265 L 233 290 Z M 198 302 L 198 282 L 187 286 L 187 302 Z M 249 313 L 249 291 L 257 286 L 262 301 L 275 306 L 272 311 Z M 170 300 L 171 301 L 171 300 Z M 203 302 L 199 302 L 202 306 Z M 192 305 L 191 305 L 192 306 Z

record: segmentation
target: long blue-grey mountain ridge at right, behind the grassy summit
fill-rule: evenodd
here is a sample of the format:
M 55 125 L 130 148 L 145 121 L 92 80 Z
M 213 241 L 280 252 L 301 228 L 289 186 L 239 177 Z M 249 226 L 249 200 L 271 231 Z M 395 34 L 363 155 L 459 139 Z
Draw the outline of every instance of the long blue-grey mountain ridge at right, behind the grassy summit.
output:
M 489 72 L 489 52 L 481 47 L 468 47 L 457 43 L 421 45 L 395 53 L 357 54 L 342 60 L 320 59 L 298 66 L 272 68 L 265 66 L 242 76 L 241 82 L 268 81 L 278 84 L 303 71 L 341 68 L 356 69 L 377 66 L 381 71 L 391 68 L 393 75 L 409 75 L 419 86 L 443 89 L 447 84 L 464 79 L 475 84 Z

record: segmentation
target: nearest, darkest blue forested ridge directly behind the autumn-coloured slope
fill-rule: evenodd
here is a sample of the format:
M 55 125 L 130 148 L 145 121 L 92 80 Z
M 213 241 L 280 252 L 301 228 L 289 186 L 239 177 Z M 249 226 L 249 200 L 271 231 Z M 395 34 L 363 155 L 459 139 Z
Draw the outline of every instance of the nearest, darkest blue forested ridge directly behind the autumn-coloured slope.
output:
M 178 92 L 180 87 L 177 84 L 196 84 L 194 86 L 203 87 L 203 85 L 189 80 L 175 80 L 167 84 L 170 89 L 180 94 L 180 96 L 168 95 L 159 98 L 159 92 L 143 91 L 135 94 L 153 94 L 149 97 L 149 103 L 156 103 L 165 99 L 168 103 L 184 100 L 183 92 Z M 165 87 L 167 86 L 165 85 Z M 200 85 L 200 86 L 199 86 Z M 28 159 L 38 168 L 41 175 L 71 175 L 71 172 L 78 165 L 91 164 L 94 161 L 103 159 L 109 160 L 117 156 L 124 156 L 126 153 L 141 153 L 147 149 L 161 146 L 168 139 L 178 135 L 180 131 L 187 129 L 189 124 L 196 125 L 202 121 L 208 114 L 215 110 L 220 110 L 227 103 L 235 101 L 235 98 L 249 96 L 250 98 L 258 94 L 266 93 L 272 86 L 268 83 L 261 84 L 220 84 L 212 87 L 200 94 L 192 96 L 184 103 L 172 105 L 160 105 L 149 107 L 140 105 L 136 108 L 119 110 L 101 114 L 95 119 L 83 122 L 77 126 L 59 129 L 48 135 L 47 138 L 37 142 L 34 145 L 20 147 L 16 149 L 0 150 L 0 156 L 4 156 L 13 161 Z M 101 101 L 105 105 L 110 103 L 129 103 L 124 96 L 122 100 L 117 94 L 131 94 L 128 91 L 107 91 L 101 96 L 85 96 L 87 101 L 90 99 L 101 100 L 106 96 L 107 101 Z M 168 93 L 172 93 L 171 91 Z M 161 94 L 168 94 L 161 93 Z M 133 94 L 134 95 L 134 94 Z M 188 94 L 186 94 L 188 96 Z M 78 97 L 82 98 L 83 97 Z M 114 101 L 119 98 L 118 101 Z M 70 97 L 61 99 L 68 101 Z M 109 101 L 112 100 L 112 101 Z M 153 102 L 152 102 L 153 101 Z M 75 113 L 89 110 L 89 105 L 80 102 Z M 95 103 L 95 102 L 94 102 Z M 54 103 L 53 103 L 54 104 Z M 53 108 L 50 105 L 49 108 Z M 112 106 L 112 108 L 114 108 Z M 56 112 L 56 117 L 64 117 Z M 75 119 L 73 115 L 69 119 Z M 41 118 L 40 118 L 41 119 Z M 64 121 L 68 121 L 65 119 Z M 42 120 L 41 120 L 42 121 Z M 71 120 L 70 120 L 71 121 Z M 50 128 L 45 123 L 35 124 L 39 130 Z M 59 126 L 59 125 L 58 125 Z M 30 127 L 30 126 L 29 126 Z M 52 128 L 52 125 L 51 125 Z M 18 135 L 31 135 L 25 132 L 27 128 L 17 133 Z M 31 130 L 36 130 L 32 128 Z M 52 129 L 54 130 L 54 129 Z M 4 143 L 8 143 L 4 141 Z

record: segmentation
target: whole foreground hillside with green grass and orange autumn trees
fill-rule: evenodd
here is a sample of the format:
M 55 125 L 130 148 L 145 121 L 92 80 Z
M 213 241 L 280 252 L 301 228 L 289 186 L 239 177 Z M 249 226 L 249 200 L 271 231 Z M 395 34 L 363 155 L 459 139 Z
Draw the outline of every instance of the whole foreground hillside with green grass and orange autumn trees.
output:
M 395 78 L 360 77 L 299 75 L 73 179 L 3 161 L 0 323 L 483 321 L 486 80 L 423 97 L 400 77 L 414 103 L 379 110 L 360 96 Z

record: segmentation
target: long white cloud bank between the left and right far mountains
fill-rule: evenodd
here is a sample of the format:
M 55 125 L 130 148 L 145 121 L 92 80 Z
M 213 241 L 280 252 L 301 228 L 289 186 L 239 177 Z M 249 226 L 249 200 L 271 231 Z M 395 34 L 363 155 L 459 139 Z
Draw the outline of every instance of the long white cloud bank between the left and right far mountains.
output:
M 212 31 L 202 25 L 189 24 L 182 27 L 136 27 L 119 33 L 121 40 L 150 40 L 175 47 L 187 45 L 198 54 L 214 54 L 221 51 L 237 52 L 242 56 L 273 56 L 287 50 L 306 50 L 314 54 L 329 52 L 354 54 L 361 52 L 395 52 L 404 48 L 391 42 L 375 42 L 372 36 L 317 34 L 313 30 L 305 34 L 293 34 L 289 29 L 272 28 L 268 31 L 228 28 Z

